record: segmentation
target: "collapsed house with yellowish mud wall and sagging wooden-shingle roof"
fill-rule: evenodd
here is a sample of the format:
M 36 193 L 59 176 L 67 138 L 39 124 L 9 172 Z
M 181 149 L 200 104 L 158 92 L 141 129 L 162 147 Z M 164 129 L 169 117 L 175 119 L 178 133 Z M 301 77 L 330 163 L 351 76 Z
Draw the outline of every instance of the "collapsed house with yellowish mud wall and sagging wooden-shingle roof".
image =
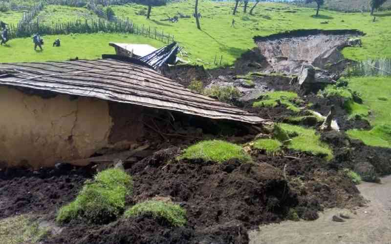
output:
M 194 93 L 139 60 L 104 57 L 0 63 L 3 165 L 52 166 L 90 157 L 101 148 L 135 143 L 145 139 L 148 120 L 157 114 L 263 121 Z

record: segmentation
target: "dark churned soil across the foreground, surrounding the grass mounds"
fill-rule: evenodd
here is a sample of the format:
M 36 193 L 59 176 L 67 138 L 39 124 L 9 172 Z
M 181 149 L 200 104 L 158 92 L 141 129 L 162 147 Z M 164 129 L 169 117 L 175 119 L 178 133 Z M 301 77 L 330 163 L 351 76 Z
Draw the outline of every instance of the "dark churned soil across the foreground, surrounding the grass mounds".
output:
M 177 152 L 178 148 L 170 147 L 129 166 L 126 171 L 133 176 L 134 194 L 127 204 L 168 197 L 186 209 L 185 227 L 172 227 L 148 215 L 106 225 L 77 220 L 43 243 L 248 243 L 247 230 L 285 220 L 289 209 L 313 220 L 325 207 L 362 204 L 355 185 L 314 156 L 286 152 L 300 157 L 296 160 L 253 152 L 255 163 L 217 164 L 174 162 Z M 167 160 L 172 163 L 164 163 Z M 66 164 L 58 169 L 1 172 L 1 218 L 35 213 L 53 222 L 58 208 L 72 201 L 93 173 L 90 167 Z

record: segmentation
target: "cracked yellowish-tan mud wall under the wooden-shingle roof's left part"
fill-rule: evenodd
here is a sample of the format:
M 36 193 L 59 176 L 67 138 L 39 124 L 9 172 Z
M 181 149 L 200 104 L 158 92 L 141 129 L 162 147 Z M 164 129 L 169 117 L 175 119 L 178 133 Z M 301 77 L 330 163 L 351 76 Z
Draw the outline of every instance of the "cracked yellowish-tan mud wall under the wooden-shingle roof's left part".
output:
M 43 99 L 0 86 L 0 161 L 51 166 L 86 158 L 109 144 L 113 125 L 106 101 L 67 95 Z

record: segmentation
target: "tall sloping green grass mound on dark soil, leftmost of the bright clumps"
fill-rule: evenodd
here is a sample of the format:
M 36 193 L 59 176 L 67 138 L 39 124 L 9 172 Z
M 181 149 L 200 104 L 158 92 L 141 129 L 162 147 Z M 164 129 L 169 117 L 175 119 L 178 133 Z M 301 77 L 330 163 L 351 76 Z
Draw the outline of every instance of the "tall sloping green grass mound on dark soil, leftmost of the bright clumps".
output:
M 60 208 L 56 221 L 66 223 L 86 218 L 96 224 L 108 223 L 125 210 L 125 197 L 132 193 L 132 178 L 119 169 L 98 173 L 86 183 L 76 199 Z

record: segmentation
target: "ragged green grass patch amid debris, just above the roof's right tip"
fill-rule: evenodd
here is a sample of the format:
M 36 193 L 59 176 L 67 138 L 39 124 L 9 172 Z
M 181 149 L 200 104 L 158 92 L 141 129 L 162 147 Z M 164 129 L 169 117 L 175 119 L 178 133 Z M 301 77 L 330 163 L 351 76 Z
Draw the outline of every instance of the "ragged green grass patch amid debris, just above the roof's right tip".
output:
M 274 91 L 264 94 L 261 98 L 261 101 L 254 102 L 253 107 L 276 107 L 279 103 L 286 105 L 287 109 L 290 109 L 294 112 L 300 112 L 300 109 L 291 102 L 293 99 L 297 99 L 297 94 L 294 92 L 288 91 Z

